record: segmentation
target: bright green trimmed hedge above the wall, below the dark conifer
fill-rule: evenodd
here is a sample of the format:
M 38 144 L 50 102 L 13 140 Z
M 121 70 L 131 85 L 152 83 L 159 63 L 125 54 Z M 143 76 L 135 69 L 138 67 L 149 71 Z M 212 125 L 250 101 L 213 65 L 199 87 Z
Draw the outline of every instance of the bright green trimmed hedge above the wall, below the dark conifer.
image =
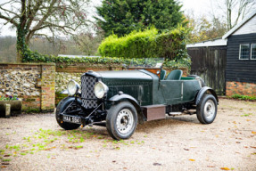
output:
M 179 61 L 187 57 L 187 30 L 181 26 L 159 34 L 156 28 L 133 31 L 124 37 L 111 35 L 99 46 L 102 56 L 126 58 L 165 58 Z

